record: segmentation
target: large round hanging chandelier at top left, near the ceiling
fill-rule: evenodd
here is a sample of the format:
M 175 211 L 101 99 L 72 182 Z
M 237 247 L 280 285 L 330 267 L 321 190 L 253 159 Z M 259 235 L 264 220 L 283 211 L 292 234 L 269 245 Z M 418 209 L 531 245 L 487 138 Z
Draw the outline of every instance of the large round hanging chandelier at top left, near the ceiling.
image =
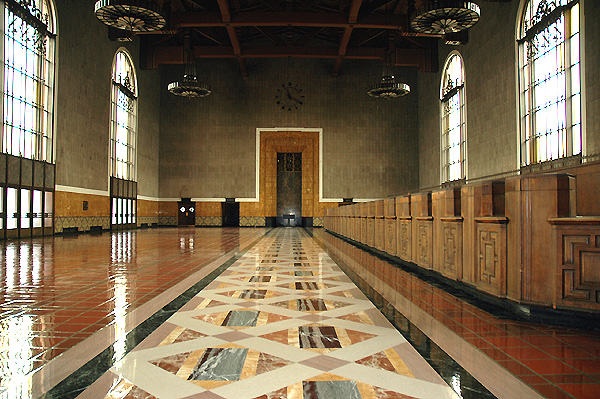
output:
M 160 30 L 166 24 L 160 7 L 151 0 L 98 0 L 94 13 L 108 26 L 133 32 Z

